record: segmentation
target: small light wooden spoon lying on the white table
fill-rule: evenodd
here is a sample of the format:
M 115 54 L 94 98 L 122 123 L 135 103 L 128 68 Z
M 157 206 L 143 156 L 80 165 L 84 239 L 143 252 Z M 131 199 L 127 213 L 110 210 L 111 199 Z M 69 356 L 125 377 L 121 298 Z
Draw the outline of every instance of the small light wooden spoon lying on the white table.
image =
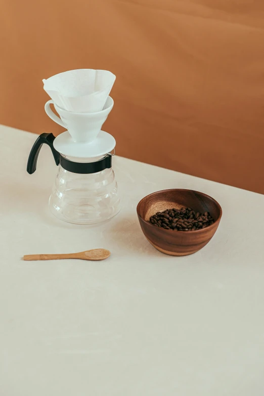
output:
M 26 254 L 24 260 L 59 260 L 61 258 L 79 258 L 81 260 L 104 260 L 110 256 L 110 251 L 106 249 L 85 250 L 79 253 L 68 254 Z

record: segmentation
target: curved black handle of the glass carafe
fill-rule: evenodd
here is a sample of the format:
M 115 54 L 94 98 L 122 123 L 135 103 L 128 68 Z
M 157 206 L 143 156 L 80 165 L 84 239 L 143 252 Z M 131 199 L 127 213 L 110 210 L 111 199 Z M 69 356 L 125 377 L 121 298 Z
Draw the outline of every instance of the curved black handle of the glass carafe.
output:
M 50 146 L 52 154 L 53 154 L 55 162 L 56 162 L 56 165 L 59 165 L 60 153 L 57 150 L 55 150 L 55 148 L 53 147 L 54 140 L 55 140 L 55 136 L 53 136 L 53 134 L 39 135 L 39 137 L 37 138 L 37 140 L 35 141 L 32 149 L 31 149 L 29 157 L 28 157 L 27 171 L 29 174 L 34 173 L 34 171 L 36 170 L 37 157 L 38 157 L 39 151 L 40 151 L 43 143 L 46 143 L 48 146 Z

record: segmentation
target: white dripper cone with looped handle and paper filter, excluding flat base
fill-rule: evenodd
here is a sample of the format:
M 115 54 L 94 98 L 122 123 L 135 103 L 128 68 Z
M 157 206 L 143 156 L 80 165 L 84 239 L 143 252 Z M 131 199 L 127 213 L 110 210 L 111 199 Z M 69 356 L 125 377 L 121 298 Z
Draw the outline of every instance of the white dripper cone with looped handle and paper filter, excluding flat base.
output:
M 113 108 L 109 93 L 114 81 L 110 71 L 94 69 L 69 70 L 43 80 L 43 88 L 52 98 L 45 105 L 46 113 L 68 129 L 74 142 L 91 143 Z

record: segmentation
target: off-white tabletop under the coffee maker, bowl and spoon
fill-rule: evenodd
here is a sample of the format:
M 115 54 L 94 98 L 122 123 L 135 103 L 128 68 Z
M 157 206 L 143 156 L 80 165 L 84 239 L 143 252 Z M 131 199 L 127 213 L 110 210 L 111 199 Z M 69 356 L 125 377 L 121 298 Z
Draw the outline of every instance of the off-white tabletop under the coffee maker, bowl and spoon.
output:
M 50 149 L 29 175 L 36 136 L 1 127 L 0 138 L 1 395 L 263 396 L 264 196 L 116 157 L 121 212 L 71 225 L 48 211 Z M 137 203 L 166 188 L 222 205 L 194 255 L 163 255 L 140 230 Z M 97 247 L 112 256 L 20 259 Z

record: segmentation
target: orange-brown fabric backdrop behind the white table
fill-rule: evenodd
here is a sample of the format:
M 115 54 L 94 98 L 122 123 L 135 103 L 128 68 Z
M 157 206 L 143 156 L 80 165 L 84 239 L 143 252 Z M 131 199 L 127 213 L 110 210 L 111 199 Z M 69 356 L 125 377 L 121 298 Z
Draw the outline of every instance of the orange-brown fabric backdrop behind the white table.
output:
M 109 69 L 117 80 L 105 129 L 117 154 L 264 193 L 263 0 L 1 8 L 0 123 L 58 134 L 42 78 Z

